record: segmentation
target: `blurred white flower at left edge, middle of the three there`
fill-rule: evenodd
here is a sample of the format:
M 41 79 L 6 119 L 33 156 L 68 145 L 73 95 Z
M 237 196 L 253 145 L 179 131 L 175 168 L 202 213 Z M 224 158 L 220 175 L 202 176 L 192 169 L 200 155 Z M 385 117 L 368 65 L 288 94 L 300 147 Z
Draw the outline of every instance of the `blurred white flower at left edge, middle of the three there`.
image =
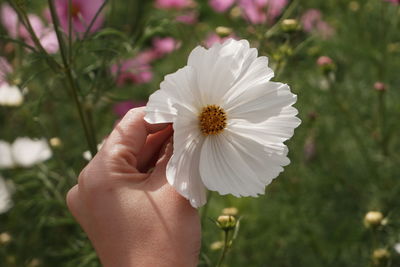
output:
M 12 145 L 0 140 L 0 168 L 13 166 L 32 167 L 48 160 L 52 156 L 51 149 L 45 139 L 17 138 Z M 3 157 L 5 155 L 5 157 Z

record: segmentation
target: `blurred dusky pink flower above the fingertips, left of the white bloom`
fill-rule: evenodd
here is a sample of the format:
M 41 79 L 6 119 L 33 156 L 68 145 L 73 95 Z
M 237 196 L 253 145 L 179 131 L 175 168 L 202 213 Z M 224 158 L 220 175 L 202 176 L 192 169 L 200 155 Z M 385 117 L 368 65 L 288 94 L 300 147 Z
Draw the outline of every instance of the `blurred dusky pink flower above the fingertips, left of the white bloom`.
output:
M 132 58 L 122 62 L 122 64 L 114 64 L 111 66 L 111 72 L 117 75 L 118 86 L 127 83 L 147 83 L 153 78 L 151 66 L 144 63 L 140 58 Z

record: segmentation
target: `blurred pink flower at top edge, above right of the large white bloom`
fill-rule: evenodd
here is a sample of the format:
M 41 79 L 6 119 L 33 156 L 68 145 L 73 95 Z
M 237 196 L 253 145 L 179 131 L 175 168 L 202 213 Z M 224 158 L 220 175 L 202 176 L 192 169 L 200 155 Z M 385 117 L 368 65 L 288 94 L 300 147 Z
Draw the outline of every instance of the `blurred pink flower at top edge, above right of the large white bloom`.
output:
M 253 24 L 273 22 L 281 15 L 288 0 L 240 0 L 244 18 Z

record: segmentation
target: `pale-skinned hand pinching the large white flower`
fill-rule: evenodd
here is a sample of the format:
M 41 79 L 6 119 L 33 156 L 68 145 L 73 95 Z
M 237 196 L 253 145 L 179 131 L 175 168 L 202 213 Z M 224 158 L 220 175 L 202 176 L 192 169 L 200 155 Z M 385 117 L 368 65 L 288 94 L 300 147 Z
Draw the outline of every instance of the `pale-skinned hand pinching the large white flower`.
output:
M 132 109 L 82 170 L 67 204 L 105 267 L 196 266 L 198 212 L 166 180 L 172 127 Z

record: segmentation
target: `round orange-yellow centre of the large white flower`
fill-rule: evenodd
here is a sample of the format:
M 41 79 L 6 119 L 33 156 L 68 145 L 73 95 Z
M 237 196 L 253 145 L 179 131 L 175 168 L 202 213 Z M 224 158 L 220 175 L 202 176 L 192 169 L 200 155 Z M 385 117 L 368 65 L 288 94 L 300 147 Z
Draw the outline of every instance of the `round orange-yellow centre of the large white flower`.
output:
M 220 106 L 205 106 L 199 115 L 200 131 L 203 135 L 220 134 L 226 127 L 226 121 L 226 112 Z

